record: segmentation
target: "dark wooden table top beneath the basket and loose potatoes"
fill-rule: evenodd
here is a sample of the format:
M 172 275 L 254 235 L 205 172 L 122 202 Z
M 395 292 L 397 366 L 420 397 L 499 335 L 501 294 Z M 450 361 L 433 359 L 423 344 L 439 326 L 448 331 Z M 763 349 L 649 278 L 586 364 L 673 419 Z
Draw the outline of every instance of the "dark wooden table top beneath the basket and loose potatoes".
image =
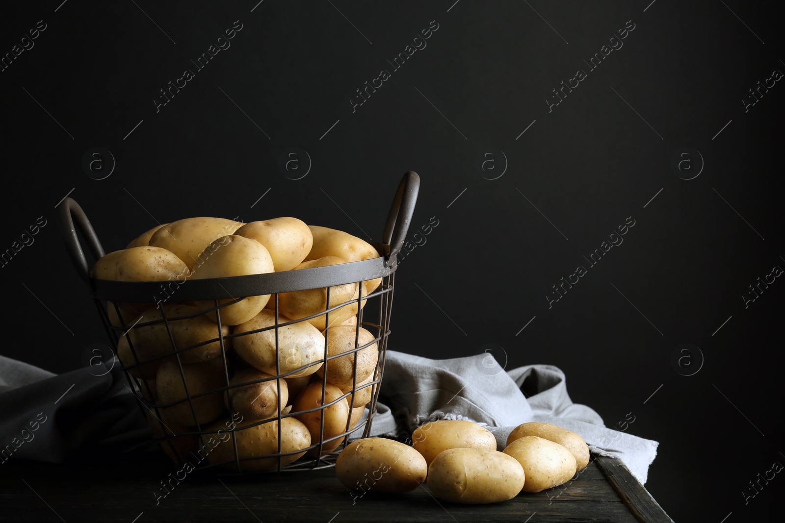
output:
M 331 468 L 250 479 L 192 473 L 158 498 L 179 468 L 162 452 L 62 465 L 12 459 L 0 464 L 0 521 L 671 521 L 626 467 L 599 456 L 567 485 L 491 505 L 437 501 L 425 485 L 350 492 Z

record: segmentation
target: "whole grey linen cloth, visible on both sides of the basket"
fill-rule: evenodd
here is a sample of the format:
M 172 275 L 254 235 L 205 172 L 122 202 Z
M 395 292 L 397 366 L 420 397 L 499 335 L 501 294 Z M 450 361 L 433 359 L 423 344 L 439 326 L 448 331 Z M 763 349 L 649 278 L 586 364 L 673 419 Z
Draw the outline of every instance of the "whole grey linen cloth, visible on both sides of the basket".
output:
M 0 356 L 0 467 L 12 457 L 62 463 L 80 449 L 148 442 L 152 431 L 119 367 L 115 358 L 56 375 Z M 606 428 L 597 412 L 574 404 L 552 365 L 505 372 L 487 353 L 432 360 L 388 350 L 381 394 L 371 435 L 400 438 L 429 420 L 470 419 L 486 425 L 501 450 L 520 423 L 544 421 L 621 459 L 641 483 L 657 453 L 656 441 Z

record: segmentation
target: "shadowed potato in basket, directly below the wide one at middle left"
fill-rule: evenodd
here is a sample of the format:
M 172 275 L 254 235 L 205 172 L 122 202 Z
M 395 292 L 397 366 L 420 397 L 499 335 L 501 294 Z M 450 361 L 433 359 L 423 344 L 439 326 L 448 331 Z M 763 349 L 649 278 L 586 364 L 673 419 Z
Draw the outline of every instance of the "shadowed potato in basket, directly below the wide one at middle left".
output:
M 197 421 L 203 427 L 206 423 L 215 421 L 225 411 L 223 390 L 215 390 L 226 385 L 222 358 L 215 358 L 204 363 L 184 363 L 183 374 L 185 382 L 188 383 L 188 393 L 192 400 L 190 402 L 188 400 L 182 401 L 160 410 L 167 419 L 184 427 L 194 427 Z M 161 364 L 155 375 L 155 384 L 158 389 L 159 401 L 162 404 L 187 398 L 177 361 L 167 360 Z M 197 394 L 210 390 L 215 390 L 215 392 L 194 398 Z M 194 419 L 191 403 L 196 412 L 196 419 Z

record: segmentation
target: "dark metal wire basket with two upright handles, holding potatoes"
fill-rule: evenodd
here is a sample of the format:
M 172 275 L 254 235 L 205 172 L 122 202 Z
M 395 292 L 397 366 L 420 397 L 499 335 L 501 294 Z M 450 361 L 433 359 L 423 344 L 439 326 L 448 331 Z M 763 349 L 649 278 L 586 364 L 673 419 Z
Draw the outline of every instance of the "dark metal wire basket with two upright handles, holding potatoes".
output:
M 378 252 L 376 258 L 297 271 L 184 279 L 176 281 L 174 286 L 172 281 L 91 278 L 82 242 L 95 260 L 104 256 L 104 249 L 79 204 L 71 198 L 64 200 L 60 205 L 60 227 L 66 248 L 79 276 L 89 285 L 111 345 L 115 347 L 115 355 L 123 363 L 128 387 L 136 395 L 144 416 L 147 416 L 155 439 L 171 459 L 188 467 L 187 471 L 220 467 L 219 470 L 229 474 L 316 469 L 333 466 L 350 437 L 365 438 L 370 434 L 390 334 L 396 256 L 406 238 L 418 190 L 419 176 L 412 171 L 407 172 L 393 198 L 382 243 L 371 244 Z M 363 292 L 363 282 L 378 279 L 381 279 L 378 287 L 372 292 Z M 356 285 L 357 292 L 351 300 L 331 303 L 330 293 L 336 292 L 335 289 L 342 285 Z M 288 320 L 280 314 L 282 293 L 317 289 L 325 295 L 323 310 L 296 320 Z M 236 332 L 234 326 L 221 322 L 221 312 L 225 307 L 248 296 L 265 295 L 270 296 L 266 313 L 268 317 L 272 315 L 269 325 Z M 188 303 L 188 306 L 177 308 L 174 300 Z M 201 306 L 197 307 L 199 303 Z M 204 303 L 208 305 L 205 307 Z M 135 308 L 139 311 L 146 309 L 147 312 L 143 315 L 130 312 Z M 323 325 L 321 335 L 327 340 L 330 329 L 334 333 L 339 330 L 330 320 L 330 314 L 333 319 L 341 319 L 347 316 L 347 311 L 353 315 L 343 325 L 353 324 L 353 347 L 356 348 L 329 355 L 325 341 L 323 356 L 303 365 L 298 365 L 301 361 L 291 365 L 287 358 L 292 356 L 287 354 L 294 354 L 292 351 L 298 347 L 282 343 L 290 332 L 287 329 L 294 329 L 294 326 L 302 325 L 301 322 L 316 320 L 317 325 Z M 206 319 L 207 314 L 212 314 L 213 318 Z M 194 340 L 183 336 L 183 332 L 191 329 L 195 321 L 211 322 L 215 336 L 192 343 Z M 340 329 L 345 338 L 346 328 L 341 326 Z M 150 332 L 165 336 L 168 340 L 165 350 L 145 354 L 144 343 L 140 340 L 144 339 L 144 333 Z M 241 337 L 254 335 L 274 340 L 271 343 L 275 347 L 275 373 L 270 369 L 271 372 L 265 376 L 254 375 L 254 366 L 248 365 L 232 350 L 232 345 Z M 248 340 L 250 338 L 245 341 Z M 206 361 L 197 362 L 194 358 L 206 358 Z M 344 358 L 342 363 L 350 363 L 352 369 L 351 387 L 347 385 L 338 392 L 327 381 L 328 362 L 337 358 Z M 375 360 L 369 376 L 357 374 L 361 358 Z M 159 398 L 162 387 L 156 387 L 155 381 L 151 383 L 151 376 L 159 376 L 165 365 L 170 375 L 173 372 L 175 376 L 166 381 L 169 383 L 167 387 L 181 390 L 179 397 L 173 401 L 162 401 Z M 322 376 L 312 371 L 314 367 L 323 369 Z M 232 380 L 233 375 L 237 375 L 235 369 L 238 373 L 247 370 L 243 376 L 252 377 L 239 382 Z M 210 376 L 210 379 L 203 376 Z M 311 376 L 309 385 L 312 387 L 319 387 L 313 383 L 321 383 L 320 398 L 317 391 L 313 401 L 316 406 L 309 404 L 305 406 L 310 408 L 295 410 L 294 406 L 298 405 L 287 406 L 287 401 L 283 400 L 283 389 L 287 389 L 288 393 L 293 385 L 294 388 L 302 387 L 302 378 L 307 376 Z M 265 398 L 274 396 L 272 408 L 275 412 L 260 417 L 259 411 L 253 410 L 249 416 L 248 405 L 256 400 L 243 403 L 245 414 L 240 412 L 235 398 L 241 394 L 247 397 L 255 390 L 262 390 L 260 396 L 265 394 Z M 167 398 L 170 399 L 170 396 Z M 224 408 L 216 416 L 219 401 Z M 253 405 L 250 408 L 256 409 Z M 341 417 L 344 414 L 345 423 L 344 417 Z M 177 423 L 173 422 L 173 418 Z M 308 439 L 303 434 L 299 438 L 293 436 L 297 430 L 302 432 L 300 425 L 309 431 L 310 444 L 307 446 L 303 445 L 303 440 Z M 265 444 L 255 447 L 248 443 L 262 440 Z M 299 441 L 299 445 L 292 448 L 294 440 Z

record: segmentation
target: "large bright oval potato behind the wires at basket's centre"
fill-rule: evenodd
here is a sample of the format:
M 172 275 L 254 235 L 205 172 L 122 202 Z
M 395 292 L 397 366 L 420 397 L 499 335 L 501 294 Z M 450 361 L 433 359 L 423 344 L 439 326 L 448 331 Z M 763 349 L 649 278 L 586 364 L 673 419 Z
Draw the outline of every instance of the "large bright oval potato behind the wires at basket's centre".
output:
M 279 316 L 279 323 L 290 321 L 289 318 Z M 243 324 L 236 325 L 233 332 L 236 335 L 256 329 L 264 329 L 276 324 L 276 314 L 265 309 L 254 318 Z M 276 375 L 276 359 L 279 361 L 281 374 L 293 372 L 287 378 L 297 378 L 313 374 L 323 364 L 319 362 L 324 358 L 324 336 L 308 322 L 300 321 L 292 325 L 278 328 L 279 354 L 276 358 L 276 329 L 262 332 L 253 332 L 244 336 L 235 337 L 235 352 L 240 358 L 254 365 L 257 369 Z M 305 367 L 305 365 L 311 365 Z M 299 370 L 298 370 L 299 369 Z

